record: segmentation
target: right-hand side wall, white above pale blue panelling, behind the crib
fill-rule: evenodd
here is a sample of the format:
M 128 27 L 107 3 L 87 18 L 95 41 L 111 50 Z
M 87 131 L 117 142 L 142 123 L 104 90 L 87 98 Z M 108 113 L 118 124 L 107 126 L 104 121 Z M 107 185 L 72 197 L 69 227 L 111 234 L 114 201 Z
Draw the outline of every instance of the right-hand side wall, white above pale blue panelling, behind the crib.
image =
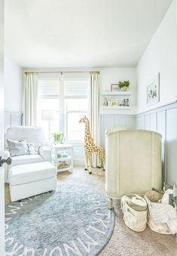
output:
M 177 184 L 177 107 L 176 103 L 172 103 L 177 100 L 176 0 L 172 1 L 154 33 L 139 61 L 136 72 L 137 112 L 140 113 L 136 117 L 137 128 L 145 128 L 162 134 L 165 141 L 163 179 L 170 184 Z M 160 72 L 160 102 L 148 107 L 146 106 L 146 86 L 157 75 L 157 72 Z M 159 106 L 163 107 L 158 108 Z

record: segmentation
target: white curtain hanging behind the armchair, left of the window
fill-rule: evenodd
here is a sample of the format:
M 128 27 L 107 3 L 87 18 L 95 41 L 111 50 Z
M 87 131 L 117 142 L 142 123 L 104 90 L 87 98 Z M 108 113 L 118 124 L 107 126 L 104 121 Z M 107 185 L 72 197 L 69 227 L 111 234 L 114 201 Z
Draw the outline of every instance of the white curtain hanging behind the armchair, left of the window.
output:
M 23 125 L 36 126 L 38 106 L 38 73 L 26 72 L 23 90 Z

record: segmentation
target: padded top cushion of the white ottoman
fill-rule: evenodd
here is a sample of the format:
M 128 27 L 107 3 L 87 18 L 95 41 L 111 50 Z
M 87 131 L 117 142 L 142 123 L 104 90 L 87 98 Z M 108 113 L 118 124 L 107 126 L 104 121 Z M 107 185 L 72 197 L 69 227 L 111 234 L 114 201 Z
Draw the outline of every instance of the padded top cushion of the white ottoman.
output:
M 10 184 L 25 184 L 37 180 L 44 180 L 56 176 L 56 167 L 50 162 L 38 162 L 29 165 L 16 165 L 11 167 Z

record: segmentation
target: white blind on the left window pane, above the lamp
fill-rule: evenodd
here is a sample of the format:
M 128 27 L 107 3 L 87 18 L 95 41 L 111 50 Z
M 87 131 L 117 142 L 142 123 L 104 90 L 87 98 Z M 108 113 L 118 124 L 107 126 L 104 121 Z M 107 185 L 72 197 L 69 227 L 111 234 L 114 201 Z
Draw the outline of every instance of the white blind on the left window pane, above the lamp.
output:
M 60 97 L 60 78 L 58 77 L 41 77 L 38 79 L 38 87 L 41 99 Z

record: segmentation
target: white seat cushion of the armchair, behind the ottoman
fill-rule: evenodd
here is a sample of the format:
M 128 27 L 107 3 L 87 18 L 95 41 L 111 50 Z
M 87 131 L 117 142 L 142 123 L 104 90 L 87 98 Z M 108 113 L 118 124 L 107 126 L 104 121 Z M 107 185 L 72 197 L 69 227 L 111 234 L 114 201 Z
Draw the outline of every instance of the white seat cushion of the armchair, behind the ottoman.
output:
M 15 165 L 26 165 L 35 162 L 44 162 L 40 155 L 24 155 L 24 156 L 14 156 L 12 157 L 11 166 Z

